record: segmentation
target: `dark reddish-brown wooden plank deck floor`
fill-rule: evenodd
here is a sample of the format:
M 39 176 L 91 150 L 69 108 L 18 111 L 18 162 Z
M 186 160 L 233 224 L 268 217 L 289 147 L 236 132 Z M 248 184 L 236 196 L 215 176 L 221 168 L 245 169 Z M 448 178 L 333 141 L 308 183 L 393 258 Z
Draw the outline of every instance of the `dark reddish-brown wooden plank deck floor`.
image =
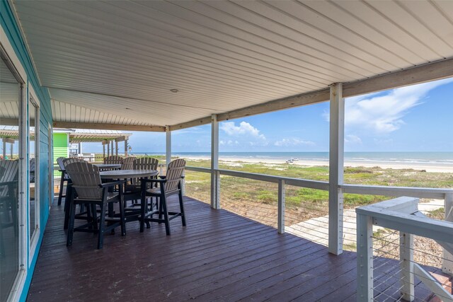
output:
M 355 252 L 327 249 L 185 197 L 188 226 L 171 221 L 139 233 L 75 233 L 67 248 L 56 203 L 28 301 L 355 301 Z M 395 267 L 394 267 L 395 268 Z M 391 267 L 389 267 L 391 269 Z

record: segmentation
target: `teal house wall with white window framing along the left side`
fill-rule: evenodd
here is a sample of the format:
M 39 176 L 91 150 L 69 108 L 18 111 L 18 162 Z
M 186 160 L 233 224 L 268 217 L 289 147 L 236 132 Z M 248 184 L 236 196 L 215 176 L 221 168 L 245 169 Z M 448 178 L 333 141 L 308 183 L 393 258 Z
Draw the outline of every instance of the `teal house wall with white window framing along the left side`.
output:
M 39 178 L 39 228 L 38 228 L 38 236 L 35 237 L 36 243 L 33 243 L 33 247 L 30 248 L 30 236 L 28 234 L 28 227 L 29 223 L 29 215 L 27 214 L 27 231 L 24 240 L 24 252 L 25 252 L 25 261 L 24 262 L 24 269 L 25 269 L 25 278 L 21 279 L 19 282 L 17 289 L 18 297 L 20 301 L 25 301 L 28 288 L 30 286 L 31 279 L 33 277 L 33 270 L 35 268 L 35 263 L 38 258 L 38 253 L 40 250 L 40 245 L 42 241 L 42 237 L 44 235 L 44 228 L 47 223 L 47 219 L 49 216 L 49 204 L 50 204 L 50 186 L 48 175 L 50 173 L 50 156 L 52 156 L 52 138 L 49 138 L 50 128 L 52 125 L 52 108 L 50 103 L 50 95 L 47 91 L 47 88 L 42 88 L 40 86 L 38 75 L 33 67 L 30 54 L 28 53 L 27 48 L 25 47 L 24 37 L 21 35 L 21 30 L 18 25 L 18 21 L 13 13 L 11 2 L 0 0 L 0 26 L 1 30 L 4 32 L 1 35 L 1 45 L 4 46 L 6 44 L 11 45 L 8 49 L 12 52 L 8 53 L 8 55 L 13 55 L 18 59 L 18 64 L 21 65 L 21 69 L 25 71 L 26 81 L 24 88 L 26 90 L 26 103 L 28 104 L 28 98 L 30 98 L 30 91 L 33 90 L 35 92 L 36 97 L 39 101 L 39 115 L 40 115 L 40 136 L 39 136 L 39 169 L 40 169 L 40 178 Z M 17 66 L 18 67 L 18 66 Z M 26 107 L 25 109 L 26 110 Z M 26 133 L 26 129 L 23 129 L 23 133 Z M 27 134 L 28 135 L 28 134 Z M 26 138 L 28 139 L 28 137 Z M 29 152 L 26 154 L 22 154 L 26 163 L 29 160 Z M 52 158 L 53 159 L 53 158 Z M 53 167 L 52 167 L 53 169 Z M 28 171 L 23 171 L 28 175 Z M 28 181 L 28 177 L 25 176 L 24 180 Z M 28 184 L 25 184 L 24 187 L 28 187 Z M 25 191 L 25 194 L 28 192 Z M 53 197 L 52 197 L 53 198 Z M 25 199 L 21 199 L 24 201 L 28 201 L 28 196 Z M 27 202 L 28 204 L 28 202 Z M 24 209 L 28 211 L 28 206 Z

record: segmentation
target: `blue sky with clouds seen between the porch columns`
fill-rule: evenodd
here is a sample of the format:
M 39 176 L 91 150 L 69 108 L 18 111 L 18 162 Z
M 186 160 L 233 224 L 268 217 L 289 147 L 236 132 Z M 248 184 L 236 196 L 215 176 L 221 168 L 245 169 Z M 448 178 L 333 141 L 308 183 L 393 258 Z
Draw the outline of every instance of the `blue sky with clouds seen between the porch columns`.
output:
M 219 151 L 328 151 L 328 117 L 326 102 L 220 122 Z M 452 152 L 452 121 L 453 78 L 346 98 L 345 151 Z M 165 152 L 164 133 L 132 133 L 132 152 Z M 210 124 L 172 132 L 172 152 L 209 152 L 210 139 Z

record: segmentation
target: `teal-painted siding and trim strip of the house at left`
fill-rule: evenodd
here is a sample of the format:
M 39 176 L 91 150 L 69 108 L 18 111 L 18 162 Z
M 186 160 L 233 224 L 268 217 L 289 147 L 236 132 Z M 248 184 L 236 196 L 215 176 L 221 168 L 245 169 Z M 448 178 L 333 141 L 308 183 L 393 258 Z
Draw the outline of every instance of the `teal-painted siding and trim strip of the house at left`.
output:
M 47 181 L 47 168 L 49 165 L 49 158 L 47 155 L 48 146 L 48 124 L 52 124 L 52 108 L 50 103 L 50 94 L 47 88 L 42 88 L 38 81 L 38 74 L 36 73 L 30 54 L 25 47 L 24 39 L 21 35 L 21 30 L 19 29 L 18 22 L 14 18 L 13 13 L 13 4 L 10 1 L 0 0 L 0 26 L 4 29 L 6 37 L 13 46 L 13 50 L 16 53 L 19 61 L 21 62 L 25 73 L 27 74 L 28 81 L 25 83 L 25 87 L 28 92 L 28 86 L 32 86 L 35 93 L 37 94 L 40 100 L 40 237 L 38 239 L 38 245 L 35 250 L 34 255 L 29 255 L 28 257 L 32 258 L 32 261 L 29 260 L 25 265 L 30 263 L 28 267 L 27 278 L 25 279 L 25 284 L 23 287 L 23 292 L 21 293 L 20 301 L 25 301 L 28 294 L 28 289 L 30 288 L 31 279 L 33 277 L 33 271 L 35 269 L 36 260 L 38 259 L 38 254 L 40 250 L 40 245 L 42 243 L 42 237 L 44 236 L 44 229 L 49 217 L 49 182 Z M 27 95 L 29 95 L 27 93 Z M 28 104 L 28 99 L 27 99 Z M 38 141 L 36 142 L 38 144 Z M 52 167 L 53 169 L 53 167 Z M 28 176 L 27 176 L 28 177 Z M 28 207 L 28 203 L 27 203 Z M 28 215 L 27 215 L 28 216 Z M 28 218 L 29 219 L 29 218 Z M 28 223 L 26 223 L 28 225 Z M 29 229 L 29 228 L 28 228 Z M 29 237 L 29 236 L 28 236 Z M 27 239 L 28 241 L 28 239 Z M 28 249 L 29 250 L 29 245 Z

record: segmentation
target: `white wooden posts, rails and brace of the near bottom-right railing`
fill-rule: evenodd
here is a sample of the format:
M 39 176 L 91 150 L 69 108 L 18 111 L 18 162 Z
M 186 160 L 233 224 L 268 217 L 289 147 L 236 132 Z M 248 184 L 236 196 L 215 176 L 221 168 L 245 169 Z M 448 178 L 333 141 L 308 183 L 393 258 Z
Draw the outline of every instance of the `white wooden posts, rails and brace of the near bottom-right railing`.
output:
M 422 190 L 423 191 L 423 190 Z M 418 192 L 422 192 L 418 190 Z M 423 193 L 425 194 L 425 193 Z M 451 193 L 447 192 L 447 202 Z M 414 240 L 413 236 L 422 236 L 430 238 L 444 248 L 444 257 L 442 257 L 442 270 L 451 274 L 453 267 L 453 258 L 450 252 L 453 252 L 453 223 L 449 221 L 440 221 L 430 219 L 418 210 L 418 198 L 399 197 L 390 199 L 385 202 L 368 205 L 357 208 L 357 301 L 379 301 L 379 297 L 385 300 L 414 301 L 415 286 L 419 279 L 425 286 L 432 291 L 442 301 L 453 301 L 451 294 L 451 285 L 440 284 L 432 274 L 414 261 Z M 446 215 L 448 218 L 449 216 Z M 393 265 L 398 265 L 396 271 L 385 273 L 385 280 L 374 282 L 374 252 L 373 226 L 380 226 L 399 232 L 396 238 L 385 239 L 384 245 L 395 245 L 392 248 L 392 255 L 397 257 Z M 395 236 L 394 236 L 395 237 Z M 395 243 L 396 242 L 396 243 Z M 399 250 L 399 253 L 398 253 Z M 429 252 L 429 251 L 423 251 Z M 386 260 L 384 264 L 388 264 Z M 382 266 L 382 264 L 378 265 Z M 389 273 L 391 272 L 391 273 Z M 376 284 L 377 283 L 377 284 Z M 379 286 L 384 284 L 384 290 Z M 396 291 L 389 292 L 393 288 Z M 447 291 L 447 289 L 449 291 Z M 429 297 L 427 297 L 429 298 Z M 423 301 L 423 300 L 422 300 Z

